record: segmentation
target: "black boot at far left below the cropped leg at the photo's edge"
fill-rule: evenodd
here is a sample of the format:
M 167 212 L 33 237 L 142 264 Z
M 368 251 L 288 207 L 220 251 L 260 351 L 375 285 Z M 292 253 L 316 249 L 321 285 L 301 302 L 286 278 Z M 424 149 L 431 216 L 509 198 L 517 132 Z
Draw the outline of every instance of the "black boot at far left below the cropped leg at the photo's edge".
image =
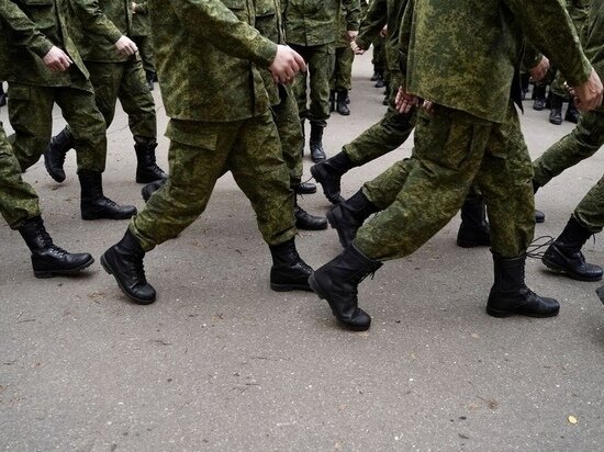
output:
M 32 267 L 36 278 L 77 273 L 94 262 L 88 252 L 70 253 L 54 245 L 40 216 L 25 221 L 19 233 L 32 251 Z

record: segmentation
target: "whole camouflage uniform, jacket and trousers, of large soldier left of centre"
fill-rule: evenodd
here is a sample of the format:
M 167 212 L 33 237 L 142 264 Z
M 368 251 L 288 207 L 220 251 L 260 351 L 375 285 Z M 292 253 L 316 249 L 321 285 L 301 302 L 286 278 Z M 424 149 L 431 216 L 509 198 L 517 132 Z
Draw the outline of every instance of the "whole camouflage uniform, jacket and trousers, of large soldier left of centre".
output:
M 277 45 L 249 26 L 253 1 L 152 0 L 149 5 L 170 117 L 170 177 L 133 218 L 131 233 L 144 250 L 176 237 L 203 212 L 227 168 L 250 200 L 265 240 L 292 239 L 292 192 L 256 69 L 272 63 Z

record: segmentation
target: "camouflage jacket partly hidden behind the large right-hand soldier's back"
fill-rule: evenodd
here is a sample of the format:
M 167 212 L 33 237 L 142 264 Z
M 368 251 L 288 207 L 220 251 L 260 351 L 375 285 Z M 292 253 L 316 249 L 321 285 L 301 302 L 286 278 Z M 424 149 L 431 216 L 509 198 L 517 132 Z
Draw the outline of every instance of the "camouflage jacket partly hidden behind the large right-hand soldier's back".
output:
M 388 25 L 385 63 L 389 70 L 400 70 L 399 33 L 406 3 L 407 0 L 373 0 L 360 23 L 359 35 L 355 39 L 361 48 L 367 50 L 371 41 L 378 36 L 384 25 Z

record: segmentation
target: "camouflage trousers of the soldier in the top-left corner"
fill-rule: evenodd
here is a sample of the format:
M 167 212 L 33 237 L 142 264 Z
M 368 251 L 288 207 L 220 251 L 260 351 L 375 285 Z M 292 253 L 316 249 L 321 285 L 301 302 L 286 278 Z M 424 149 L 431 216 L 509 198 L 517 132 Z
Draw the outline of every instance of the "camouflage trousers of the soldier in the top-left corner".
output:
M 78 171 L 104 171 L 104 121 L 94 105 L 90 82 L 83 80 L 78 84 L 81 88 L 9 83 L 9 120 L 14 129 L 9 140 L 22 171 L 34 165 L 46 151 L 53 133 L 55 103 L 71 127 Z

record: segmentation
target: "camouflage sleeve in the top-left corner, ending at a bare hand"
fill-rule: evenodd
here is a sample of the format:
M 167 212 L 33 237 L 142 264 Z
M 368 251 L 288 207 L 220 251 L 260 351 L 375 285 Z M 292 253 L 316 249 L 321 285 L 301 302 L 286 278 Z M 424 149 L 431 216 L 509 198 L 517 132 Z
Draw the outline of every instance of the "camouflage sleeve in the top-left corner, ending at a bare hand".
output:
M 35 23 L 12 1 L 0 0 L 0 16 L 11 30 L 11 45 L 25 46 L 44 58 L 54 44 L 37 30 Z

